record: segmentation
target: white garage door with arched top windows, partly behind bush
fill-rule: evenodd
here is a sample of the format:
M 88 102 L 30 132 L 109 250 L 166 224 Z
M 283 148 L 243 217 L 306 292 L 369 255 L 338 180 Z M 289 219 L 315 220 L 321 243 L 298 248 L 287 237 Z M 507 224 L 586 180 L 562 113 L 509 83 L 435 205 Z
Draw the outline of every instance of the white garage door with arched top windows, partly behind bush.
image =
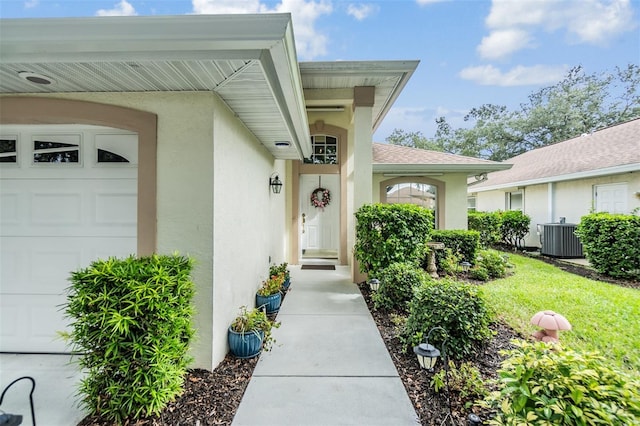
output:
M 0 351 L 68 351 L 71 271 L 135 253 L 137 144 L 103 127 L 0 127 Z

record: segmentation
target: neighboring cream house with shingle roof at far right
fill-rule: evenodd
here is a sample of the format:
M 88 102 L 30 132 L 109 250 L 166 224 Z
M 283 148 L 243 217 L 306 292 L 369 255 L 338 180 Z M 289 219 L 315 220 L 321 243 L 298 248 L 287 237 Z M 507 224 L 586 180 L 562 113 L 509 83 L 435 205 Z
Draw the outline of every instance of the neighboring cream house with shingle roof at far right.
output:
M 640 208 L 640 119 L 506 162 L 513 167 L 470 184 L 470 205 L 478 211 L 521 210 L 529 215 L 527 246 L 540 246 L 539 224 L 577 224 L 592 211 L 628 214 Z

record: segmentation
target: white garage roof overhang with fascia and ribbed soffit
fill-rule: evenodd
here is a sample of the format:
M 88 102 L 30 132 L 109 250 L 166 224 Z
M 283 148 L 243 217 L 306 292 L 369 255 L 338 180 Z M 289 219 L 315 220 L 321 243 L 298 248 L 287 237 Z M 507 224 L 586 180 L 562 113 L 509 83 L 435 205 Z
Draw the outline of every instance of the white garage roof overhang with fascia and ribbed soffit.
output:
M 311 155 L 290 14 L 1 21 L 0 93 L 185 91 L 217 93 L 275 157 Z

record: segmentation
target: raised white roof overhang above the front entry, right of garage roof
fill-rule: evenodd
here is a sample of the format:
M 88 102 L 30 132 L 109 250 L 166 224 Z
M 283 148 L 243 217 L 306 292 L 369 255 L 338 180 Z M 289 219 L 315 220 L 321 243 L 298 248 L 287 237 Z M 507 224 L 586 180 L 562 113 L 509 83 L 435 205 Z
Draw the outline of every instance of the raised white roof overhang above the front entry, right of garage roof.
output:
M 337 61 L 301 62 L 300 74 L 305 90 L 375 87 L 373 128 L 375 131 L 413 75 L 420 61 Z M 329 104 L 331 99 L 327 99 Z M 314 105 L 320 105 L 314 100 Z

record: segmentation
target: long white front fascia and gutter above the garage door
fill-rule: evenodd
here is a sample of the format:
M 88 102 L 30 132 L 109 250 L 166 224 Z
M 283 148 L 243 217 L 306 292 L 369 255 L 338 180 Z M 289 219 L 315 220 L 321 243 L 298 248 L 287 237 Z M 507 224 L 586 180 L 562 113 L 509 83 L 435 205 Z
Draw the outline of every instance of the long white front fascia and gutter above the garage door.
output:
M 289 14 L 4 19 L 0 60 L 258 59 L 289 22 Z

